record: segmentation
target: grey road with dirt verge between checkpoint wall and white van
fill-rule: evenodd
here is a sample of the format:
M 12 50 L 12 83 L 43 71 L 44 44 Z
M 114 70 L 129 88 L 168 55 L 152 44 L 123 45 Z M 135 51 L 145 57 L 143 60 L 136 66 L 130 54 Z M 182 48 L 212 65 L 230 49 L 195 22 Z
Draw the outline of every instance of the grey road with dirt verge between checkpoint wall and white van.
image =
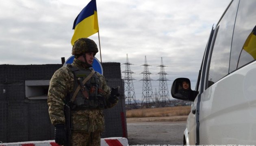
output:
M 128 143 L 183 144 L 187 116 L 127 118 Z

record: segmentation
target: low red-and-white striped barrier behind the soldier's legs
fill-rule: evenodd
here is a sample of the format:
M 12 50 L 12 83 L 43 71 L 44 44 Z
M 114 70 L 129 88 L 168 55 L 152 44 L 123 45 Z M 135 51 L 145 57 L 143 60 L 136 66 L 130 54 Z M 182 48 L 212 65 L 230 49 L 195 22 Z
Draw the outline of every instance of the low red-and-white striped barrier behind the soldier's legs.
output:
M 100 145 L 101 146 L 128 146 L 128 140 L 124 137 L 102 138 Z M 59 145 L 55 143 L 55 140 L 46 140 L 46 141 L 13 142 L 13 143 L 0 142 L 0 146 L 59 146 Z

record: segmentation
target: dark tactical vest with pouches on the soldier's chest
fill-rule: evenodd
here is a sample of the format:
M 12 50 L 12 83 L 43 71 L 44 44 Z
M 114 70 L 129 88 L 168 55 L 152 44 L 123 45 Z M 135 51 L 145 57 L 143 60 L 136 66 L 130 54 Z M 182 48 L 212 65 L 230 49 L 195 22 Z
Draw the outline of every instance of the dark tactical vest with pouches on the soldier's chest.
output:
M 72 97 L 76 88 L 81 86 L 80 91 L 77 93 L 74 102 L 71 105 L 72 110 L 87 110 L 87 109 L 104 109 L 106 106 L 106 99 L 103 91 L 100 89 L 100 79 L 96 73 L 85 83 L 82 81 L 91 73 L 91 70 L 78 69 L 77 67 L 68 64 L 74 74 L 74 87 L 73 92 L 69 97 Z

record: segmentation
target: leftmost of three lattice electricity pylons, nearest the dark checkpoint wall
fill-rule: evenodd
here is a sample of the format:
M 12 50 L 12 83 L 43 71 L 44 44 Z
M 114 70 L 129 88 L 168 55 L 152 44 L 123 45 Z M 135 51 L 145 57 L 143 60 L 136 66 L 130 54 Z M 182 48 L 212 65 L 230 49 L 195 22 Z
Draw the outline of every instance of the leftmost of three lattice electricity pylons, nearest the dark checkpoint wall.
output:
M 135 98 L 133 82 L 132 82 L 132 80 L 135 80 L 132 77 L 132 73 L 134 73 L 134 72 L 132 72 L 130 69 L 130 65 L 132 65 L 132 64 L 128 60 L 128 54 L 126 54 L 126 62 L 123 64 L 125 64 L 125 71 L 122 72 L 122 73 L 125 73 L 125 75 L 124 75 L 124 96 L 125 96 L 126 105 L 128 107 L 131 107 L 132 100 L 135 102 L 135 105 L 137 105 L 137 103 L 136 103 L 136 98 Z

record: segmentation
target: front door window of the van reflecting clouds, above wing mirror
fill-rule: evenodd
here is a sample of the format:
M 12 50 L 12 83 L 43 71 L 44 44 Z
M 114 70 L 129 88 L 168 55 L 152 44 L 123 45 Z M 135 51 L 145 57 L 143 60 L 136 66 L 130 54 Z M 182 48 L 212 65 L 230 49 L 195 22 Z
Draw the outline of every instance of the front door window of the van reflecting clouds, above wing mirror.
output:
M 217 24 L 208 70 L 208 87 L 228 75 L 232 34 L 239 0 L 234 0 Z

